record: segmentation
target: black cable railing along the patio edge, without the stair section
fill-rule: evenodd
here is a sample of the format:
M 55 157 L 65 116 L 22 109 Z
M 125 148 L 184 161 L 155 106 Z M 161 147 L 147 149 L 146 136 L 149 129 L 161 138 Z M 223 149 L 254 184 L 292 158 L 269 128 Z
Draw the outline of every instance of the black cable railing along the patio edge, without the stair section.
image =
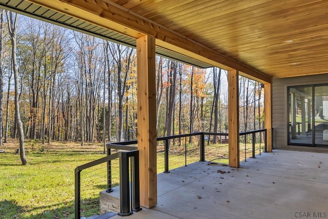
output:
M 256 153 L 256 133 L 264 133 L 263 137 L 260 138 L 260 141 L 264 140 L 264 146 L 259 143 L 259 153 L 261 153 L 261 147 L 264 152 L 267 151 L 267 129 L 260 129 L 248 132 L 240 132 L 239 136 L 246 137 L 247 135 L 251 135 L 252 141 L 250 151 L 252 152 L 251 157 L 255 157 Z M 219 137 L 219 145 L 209 146 L 206 144 L 206 141 L 210 142 L 210 136 Z M 196 141 L 192 141 L 192 138 L 197 138 Z M 160 168 L 158 172 L 170 172 L 170 169 L 174 169 L 181 166 L 187 166 L 190 163 L 194 163 L 197 161 L 206 161 L 209 159 L 210 161 L 214 160 L 224 160 L 222 163 L 228 164 L 228 133 L 216 133 L 216 132 L 194 132 L 189 134 L 180 134 L 180 135 L 171 135 L 171 136 L 164 136 L 164 137 L 157 137 L 157 166 Z M 175 141 L 175 144 L 173 143 Z M 162 144 L 159 144 L 162 142 Z M 196 142 L 196 144 L 195 144 Z M 223 142 L 223 144 L 222 144 Z M 247 152 L 248 148 L 245 150 L 242 149 L 242 143 L 246 143 L 247 141 L 243 141 L 242 138 L 240 139 L 240 149 L 243 152 Z M 129 142 L 119 142 L 108 144 L 109 146 L 113 146 L 113 149 L 117 149 L 117 146 L 125 146 L 128 145 L 136 145 L 137 141 L 129 141 Z M 221 146 L 223 145 L 223 146 Z M 212 153 L 215 153 L 215 149 L 217 147 L 224 147 L 221 154 L 216 154 L 213 156 Z M 134 147 L 136 148 L 136 147 Z M 208 152 L 210 151 L 210 152 Z M 247 158 L 245 153 L 244 158 Z M 161 162 L 164 163 L 164 167 L 162 167 Z M 110 174 L 109 174 L 110 175 Z

